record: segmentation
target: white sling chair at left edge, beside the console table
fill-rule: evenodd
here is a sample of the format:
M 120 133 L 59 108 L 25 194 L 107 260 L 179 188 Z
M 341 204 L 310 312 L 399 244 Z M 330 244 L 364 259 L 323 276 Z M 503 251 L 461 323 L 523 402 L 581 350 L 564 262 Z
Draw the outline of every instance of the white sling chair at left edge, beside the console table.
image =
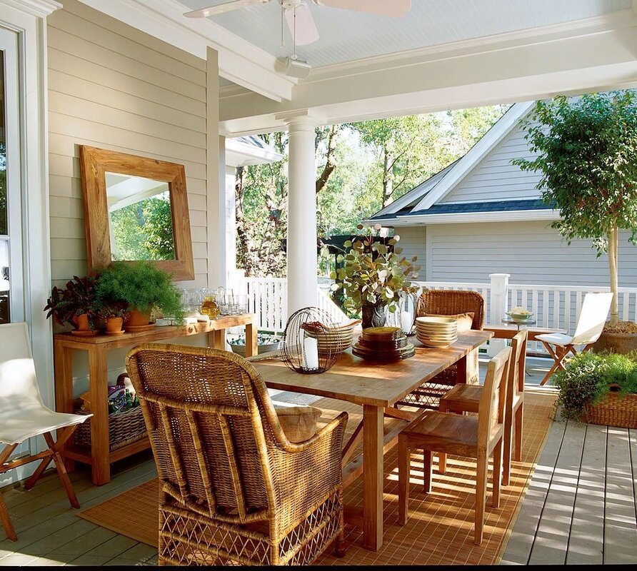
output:
M 92 415 L 54 413 L 44 405 L 36 380 L 26 323 L 0 325 L 0 443 L 5 445 L 0 451 L 0 474 L 35 460 L 41 460 L 34 474 L 24 485 L 26 490 L 30 490 L 53 460 L 71 506 L 79 507 L 59 450 L 66 440 L 69 440 L 77 425 L 83 423 L 89 416 Z M 52 435 L 54 430 L 59 431 L 57 442 Z M 24 440 L 40 434 L 44 436 L 49 448 L 26 458 L 9 460 L 11 454 Z M 6 537 L 16 541 L 18 538 L 16 530 L 6 510 L 1 492 L 0 520 Z

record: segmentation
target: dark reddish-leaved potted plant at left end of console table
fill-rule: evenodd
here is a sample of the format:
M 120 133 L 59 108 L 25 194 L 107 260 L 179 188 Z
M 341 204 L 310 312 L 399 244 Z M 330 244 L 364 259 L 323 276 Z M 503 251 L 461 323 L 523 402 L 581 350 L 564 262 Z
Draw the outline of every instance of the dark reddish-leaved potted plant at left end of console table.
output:
M 49 312 L 46 317 L 53 318 L 59 325 L 70 323 L 74 326 L 71 331 L 74 335 L 94 335 L 99 308 L 96 281 L 95 276 L 73 276 L 64 289 L 54 286 L 44 307 Z

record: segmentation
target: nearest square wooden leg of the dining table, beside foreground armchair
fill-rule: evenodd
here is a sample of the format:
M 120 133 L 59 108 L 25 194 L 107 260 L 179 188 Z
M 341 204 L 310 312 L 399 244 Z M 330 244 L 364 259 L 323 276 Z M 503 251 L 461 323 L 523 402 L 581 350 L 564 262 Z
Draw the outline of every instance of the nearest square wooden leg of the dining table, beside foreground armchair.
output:
M 383 545 L 383 408 L 363 405 L 363 547 Z

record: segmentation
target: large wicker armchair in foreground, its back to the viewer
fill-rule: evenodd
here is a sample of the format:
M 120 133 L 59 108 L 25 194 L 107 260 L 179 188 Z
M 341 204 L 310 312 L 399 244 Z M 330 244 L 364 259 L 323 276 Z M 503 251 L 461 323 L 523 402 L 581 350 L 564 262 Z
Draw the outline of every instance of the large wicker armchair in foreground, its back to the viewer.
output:
M 306 565 L 343 555 L 341 413 L 287 440 L 252 365 L 151 343 L 129 352 L 159 473 L 160 565 Z

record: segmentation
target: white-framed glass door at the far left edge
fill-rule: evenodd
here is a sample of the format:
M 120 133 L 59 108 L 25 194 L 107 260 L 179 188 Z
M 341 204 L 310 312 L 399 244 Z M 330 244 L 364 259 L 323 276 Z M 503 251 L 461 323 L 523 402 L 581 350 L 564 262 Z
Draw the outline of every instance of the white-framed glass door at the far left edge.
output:
M 0 28 L 0 324 L 24 321 L 17 35 Z

